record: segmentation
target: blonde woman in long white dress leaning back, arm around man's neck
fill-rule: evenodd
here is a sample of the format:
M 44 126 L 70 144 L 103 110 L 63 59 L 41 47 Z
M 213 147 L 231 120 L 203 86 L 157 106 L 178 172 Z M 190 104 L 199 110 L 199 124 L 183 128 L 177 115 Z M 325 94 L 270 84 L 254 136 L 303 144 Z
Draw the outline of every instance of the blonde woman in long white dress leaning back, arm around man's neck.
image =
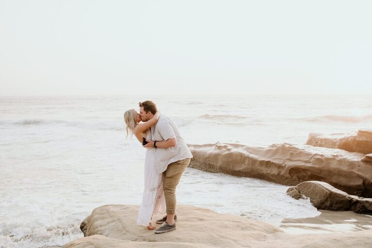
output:
M 142 143 L 143 138 L 150 140 L 149 128 L 159 120 L 160 112 L 157 111 L 152 119 L 145 123 L 140 123 L 140 114 L 129 109 L 124 113 L 126 123 L 126 136 L 135 135 Z M 165 213 L 165 198 L 163 191 L 163 173 L 157 173 L 155 168 L 155 148 L 146 148 L 145 156 L 145 188 L 143 190 L 140 212 L 137 218 L 137 225 L 147 226 L 149 230 L 155 227 L 151 219 L 155 214 Z

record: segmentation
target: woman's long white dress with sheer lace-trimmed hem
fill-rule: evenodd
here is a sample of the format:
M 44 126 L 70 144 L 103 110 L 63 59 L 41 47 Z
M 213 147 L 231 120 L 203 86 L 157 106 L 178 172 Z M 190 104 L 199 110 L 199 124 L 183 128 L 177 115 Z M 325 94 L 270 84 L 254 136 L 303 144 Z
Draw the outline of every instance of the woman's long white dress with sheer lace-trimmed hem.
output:
M 138 213 L 137 225 L 148 226 L 153 215 L 165 214 L 165 198 L 163 190 L 163 173 L 155 168 L 155 148 L 146 148 L 145 187 Z

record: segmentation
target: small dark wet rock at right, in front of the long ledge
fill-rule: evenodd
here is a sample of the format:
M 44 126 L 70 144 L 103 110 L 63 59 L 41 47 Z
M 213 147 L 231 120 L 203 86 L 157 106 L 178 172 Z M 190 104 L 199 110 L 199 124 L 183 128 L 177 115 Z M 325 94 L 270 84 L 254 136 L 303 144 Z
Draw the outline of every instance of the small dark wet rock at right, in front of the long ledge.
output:
M 372 198 L 349 195 L 325 182 L 303 182 L 288 188 L 287 194 L 297 200 L 308 197 L 317 209 L 372 215 Z

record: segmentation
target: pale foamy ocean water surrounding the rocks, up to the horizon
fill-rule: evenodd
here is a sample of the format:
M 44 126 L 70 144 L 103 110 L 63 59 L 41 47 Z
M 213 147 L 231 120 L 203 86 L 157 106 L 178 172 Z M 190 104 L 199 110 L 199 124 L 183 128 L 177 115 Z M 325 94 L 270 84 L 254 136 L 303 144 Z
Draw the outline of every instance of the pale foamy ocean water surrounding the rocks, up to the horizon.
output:
M 124 111 L 153 100 L 188 144 L 302 146 L 310 132 L 372 126 L 371 95 L 0 97 L 0 248 L 63 246 L 95 207 L 140 204 L 145 149 Z M 280 223 L 315 217 L 288 186 L 188 168 L 178 204 Z

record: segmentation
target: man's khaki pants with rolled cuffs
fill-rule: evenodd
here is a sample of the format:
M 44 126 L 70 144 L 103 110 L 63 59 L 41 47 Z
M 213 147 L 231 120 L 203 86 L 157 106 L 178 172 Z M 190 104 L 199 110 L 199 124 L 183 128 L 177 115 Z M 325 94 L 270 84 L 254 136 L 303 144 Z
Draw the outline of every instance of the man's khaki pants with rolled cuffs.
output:
M 186 167 L 190 163 L 190 158 L 178 160 L 170 163 L 167 170 L 164 171 L 164 196 L 167 206 L 167 214 L 174 214 L 176 211 L 176 186 Z

